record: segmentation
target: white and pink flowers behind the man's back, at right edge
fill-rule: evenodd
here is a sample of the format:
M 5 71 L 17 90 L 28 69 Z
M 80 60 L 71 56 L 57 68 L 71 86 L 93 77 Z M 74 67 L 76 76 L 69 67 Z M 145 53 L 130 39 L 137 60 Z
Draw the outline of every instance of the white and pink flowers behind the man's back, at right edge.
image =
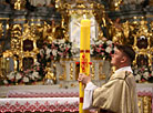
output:
M 136 82 L 152 82 L 153 70 L 151 66 L 133 66 L 133 74 L 135 75 Z

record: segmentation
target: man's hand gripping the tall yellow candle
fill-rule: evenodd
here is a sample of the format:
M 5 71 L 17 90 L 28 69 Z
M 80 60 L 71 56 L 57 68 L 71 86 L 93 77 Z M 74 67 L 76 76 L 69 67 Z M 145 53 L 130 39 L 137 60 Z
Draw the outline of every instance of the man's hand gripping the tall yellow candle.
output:
M 82 82 L 83 84 L 88 84 L 89 82 L 91 82 L 91 76 L 85 75 L 84 73 L 80 73 L 79 78 L 78 78 L 78 81 Z

